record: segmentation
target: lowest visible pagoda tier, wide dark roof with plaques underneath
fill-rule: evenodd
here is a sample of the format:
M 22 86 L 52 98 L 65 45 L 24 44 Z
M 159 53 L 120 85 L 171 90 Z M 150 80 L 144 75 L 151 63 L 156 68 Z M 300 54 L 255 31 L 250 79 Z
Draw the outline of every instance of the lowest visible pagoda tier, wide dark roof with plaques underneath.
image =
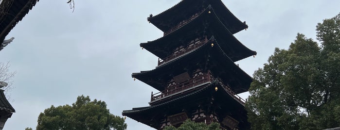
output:
M 249 130 L 247 111 L 227 89 L 213 81 L 190 94 L 154 106 L 133 108 L 122 114 L 157 130 L 169 125 L 178 127 L 186 119 L 207 124 L 220 122 L 221 128 L 226 130 Z

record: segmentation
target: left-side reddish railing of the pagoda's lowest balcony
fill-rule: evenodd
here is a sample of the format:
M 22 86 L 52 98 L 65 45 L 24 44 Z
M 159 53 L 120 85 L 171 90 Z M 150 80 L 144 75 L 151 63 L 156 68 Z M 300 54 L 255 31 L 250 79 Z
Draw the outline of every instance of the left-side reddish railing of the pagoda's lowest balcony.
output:
M 195 89 L 193 88 L 197 88 L 203 84 L 207 84 L 207 83 L 211 83 L 213 81 L 213 78 L 211 78 L 211 74 L 204 74 L 201 76 L 198 76 L 196 78 L 193 78 L 189 81 L 185 81 L 183 83 L 180 83 L 178 85 L 175 86 L 171 86 L 170 88 L 161 91 L 159 93 L 156 94 L 152 94 L 151 93 L 151 102 L 164 98 L 164 97 L 169 97 L 169 96 L 173 96 L 179 93 L 188 93 L 191 92 Z

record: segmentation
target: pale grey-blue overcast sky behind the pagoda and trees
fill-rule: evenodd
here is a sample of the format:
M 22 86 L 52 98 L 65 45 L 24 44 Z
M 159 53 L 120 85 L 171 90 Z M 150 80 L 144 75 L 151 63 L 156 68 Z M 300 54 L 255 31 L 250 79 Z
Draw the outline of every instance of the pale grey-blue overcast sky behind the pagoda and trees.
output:
M 157 57 L 141 42 L 162 32 L 148 23 L 180 0 L 40 0 L 6 39 L 0 62 L 16 70 L 11 98 L 16 113 L 4 130 L 36 128 L 37 117 L 51 105 L 72 104 L 80 95 L 103 100 L 112 114 L 148 106 L 151 91 L 131 74 L 154 69 Z M 257 51 L 236 64 L 252 75 L 274 48 L 287 49 L 297 33 L 315 39 L 315 26 L 340 13 L 340 0 L 222 0 L 249 29 L 235 34 Z M 247 97 L 247 94 L 243 94 Z M 127 118 L 128 130 L 153 130 Z

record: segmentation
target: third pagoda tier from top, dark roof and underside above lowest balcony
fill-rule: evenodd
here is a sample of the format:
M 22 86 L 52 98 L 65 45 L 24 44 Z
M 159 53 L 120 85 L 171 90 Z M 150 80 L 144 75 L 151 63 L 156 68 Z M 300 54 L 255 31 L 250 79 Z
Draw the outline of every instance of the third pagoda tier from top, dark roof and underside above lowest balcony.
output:
M 163 62 L 155 69 L 133 73 L 132 77 L 165 93 L 163 91 L 169 91 L 167 90 L 169 83 L 176 80 L 177 77 L 192 81 L 195 80 L 195 74 L 207 74 L 209 71 L 209 77 L 222 81 L 235 94 L 246 92 L 252 81 L 251 77 L 233 63 L 214 38 L 203 41 L 190 46 L 191 49 L 184 49 L 187 51 L 186 53 Z M 176 82 L 177 85 L 186 84 L 184 81 Z

